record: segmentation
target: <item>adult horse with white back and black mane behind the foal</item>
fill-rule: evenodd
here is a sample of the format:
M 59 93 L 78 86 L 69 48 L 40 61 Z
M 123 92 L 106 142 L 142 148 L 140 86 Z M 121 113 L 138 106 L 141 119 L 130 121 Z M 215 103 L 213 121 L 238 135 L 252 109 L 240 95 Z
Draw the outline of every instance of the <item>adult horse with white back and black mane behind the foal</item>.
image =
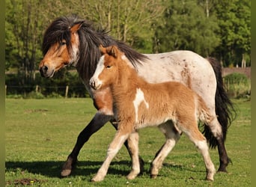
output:
M 204 126 L 204 135 L 210 147 L 218 147 L 219 171 L 226 172 L 230 159 L 225 149 L 225 138 L 234 108 L 223 87 L 218 61 L 202 58 L 190 51 L 142 55 L 125 43 L 113 39 L 106 31 L 96 30 L 85 19 L 62 16 L 49 25 L 43 36 L 43 60 L 39 65 L 41 76 L 51 78 L 56 71 L 67 65 L 76 67 L 98 111 L 88 126 L 80 132 L 75 147 L 64 163 L 61 176 L 70 175 L 79 151 L 94 132 L 108 121 L 115 126 L 115 110 L 109 88 L 94 91 L 89 85 L 101 56 L 100 44 L 118 46 L 147 82 L 181 82 L 204 99 L 211 114 L 216 114 L 221 124 L 219 126 L 219 123 L 216 123 L 214 130 Z M 125 145 L 127 146 L 127 143 Z

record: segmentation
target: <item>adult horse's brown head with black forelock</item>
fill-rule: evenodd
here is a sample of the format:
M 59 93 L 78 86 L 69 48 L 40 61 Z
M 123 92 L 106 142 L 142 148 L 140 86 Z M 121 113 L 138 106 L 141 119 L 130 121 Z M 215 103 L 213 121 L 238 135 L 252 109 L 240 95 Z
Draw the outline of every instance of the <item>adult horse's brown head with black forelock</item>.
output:
M 56 19 L 47 28 L 43 37 L 43 60 L 39 64 L 41 76 L 50 78 L 62 67 L 77 63 L 78 31 L 82 23 L 76 22 L 70 26 L 68 22 L 63 22 L 63 19 Z

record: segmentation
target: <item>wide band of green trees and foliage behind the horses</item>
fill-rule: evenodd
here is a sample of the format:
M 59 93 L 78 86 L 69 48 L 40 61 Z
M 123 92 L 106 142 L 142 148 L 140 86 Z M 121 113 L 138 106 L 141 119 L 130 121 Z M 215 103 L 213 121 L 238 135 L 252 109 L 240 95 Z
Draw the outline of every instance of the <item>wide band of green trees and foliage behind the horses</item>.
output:
M 219 58 L 225 67 L 251 63 L 249 0 L 6 0 L 5 5 L 5 67 L 16 74 L 19 87 L 61 85 L 61 80 L 39 81 L 37 69 L 43 32 L 53 19 L 72 13 L 138 52 L 188 49 Z

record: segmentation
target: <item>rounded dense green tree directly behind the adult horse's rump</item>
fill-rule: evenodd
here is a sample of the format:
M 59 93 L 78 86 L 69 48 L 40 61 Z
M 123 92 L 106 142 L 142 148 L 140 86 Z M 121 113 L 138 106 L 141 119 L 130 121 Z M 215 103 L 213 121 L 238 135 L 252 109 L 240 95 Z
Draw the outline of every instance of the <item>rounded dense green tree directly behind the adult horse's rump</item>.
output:
M 219 45 L 214 16 L 207 16 L 196 1 L 170 1 L 155 34 L 155 52 L 183 49 L 210 55 Z

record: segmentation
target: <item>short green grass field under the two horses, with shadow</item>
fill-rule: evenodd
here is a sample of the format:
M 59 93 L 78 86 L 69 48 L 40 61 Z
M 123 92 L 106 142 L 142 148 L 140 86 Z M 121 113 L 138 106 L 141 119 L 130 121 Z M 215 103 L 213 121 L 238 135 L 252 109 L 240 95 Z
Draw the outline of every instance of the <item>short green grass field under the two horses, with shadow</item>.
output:
M 150 162 L 165 138 L 158 129 L 147 128 L 140 130 L 143 174 L 135 180 L 126 179 L 131 163 L 122 147 L 105 180 L 91 183 L 115 134 L 109 123 L 82 148 L 72 175 L 60 177 L 61 167 L 79 132 L 96 111 L 91 99 L 6 99 L 6 186 L 251 186 L 251 103 L 245 99 L 234 103 L 238 116 L 228 130 L 226 141 L 233 165 L 228 166 L 228 174 L 216 174 L 214 182 L 204 180 L 202 157 L 185 135 L 165 159 L 159 177 L 150 179 Z M 217 152 L 210 150 L 216 169 Z

